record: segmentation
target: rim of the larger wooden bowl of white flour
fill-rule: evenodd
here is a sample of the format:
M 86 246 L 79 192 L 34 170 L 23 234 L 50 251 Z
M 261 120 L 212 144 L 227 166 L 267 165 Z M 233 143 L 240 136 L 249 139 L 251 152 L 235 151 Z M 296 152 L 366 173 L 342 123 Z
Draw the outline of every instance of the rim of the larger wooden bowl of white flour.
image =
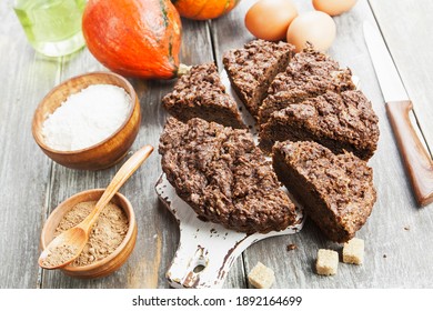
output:
M 56 93 L 57 91 L 59 91 L 59 89 L 61 89 L 62 87 L 64 87 L 64 84 L 73 81 L 73 80 L 81 80 L 85 77 L 91 77 L 91 76 L 112 76 L 119 80 L 121 80 L 122 82 L 124 82 L 124 84 L 127 86 L 127 92 L 128 94 L 131 97 L 131 107 L 130 107 L 130 111 L 129 111 L 129 114 L 128 117 L 125 118 L 125 120 L 123 121 L 123 123 L 111 134 L 109 136 L 108 138 L 105 138 L 104 140 L 95 143 L 95 144 L 92 144 L 90 147 L 87 147 L 87 148 L 83 148 L 83 149 L 78 149 L 78 150 L 71 150 L 71 151 L 66 151 L 66 150 L 57 150 L 57 149 L 52 149 L 50 148 L 49 146 L 47 146 L 44 143 L 44 141 L 42 139 L 39 139 L 39 136 L 36 133 L 37 130 L 36 130 L 36 119 L 37 119 L 37 113 L 38 111 L 42 110 L 42 107 L 44 106 L 44 103 L 48 101 L 48 99 L 53 94 Z M 111 83 L 105 83 L 105 84 L 111 84 Z M 112 86 L 112 84 L 111 84 Z M 123 88 L 124 89 L 124 88 Z M 134 90 L 134 88 L 132 87 L 132 84 L 122 76 L 118 74 L 118 73 L 114 73 L 114 72 L 110 72 L 110 71 L 93 71 L 93 72 L 88 72 L 88 73 L 83 73 L 83 74 L 79 74 L 79 76 L 74 76 L 72 78 L 69 78 L 67 80 L 64 80 L 63 82 L 61 82 L 60 84 L 56 86 L 53 89 L 51 89 L 44 97 L 43 99 L 39 102 L 37 109 L 34 110 L 34 113 L 33 113 L 33 121 L 32 121 L 32 127 L 31 127 L 31 131 L 32 131 L 32 134 L 33 134 L 33 139 L 36 140 L 36 142 L 39 144 L 39 147 L 41 147 L 42 149 L 51 152 L 51 153 L 56 153 L 56 154 L 80 154 L 80 153 L 84 153 L 85 151 L 89 151 L 89 150 L 93 150 L 98 147 L 101 147 L 103 146 L 104 143 L 107 143 L 110 139 L 112 139 L 113 137 L 115 137 L 119 132 L 121 132 L 125 127 L 127 124 L 130 122 L 132 116 L 133 116 L 133 112 L 135 110 L 135 107 L 137 104 L 139 104 L 139 100 L 138 100 L 138 96 L 137 96 L 137 92 Z

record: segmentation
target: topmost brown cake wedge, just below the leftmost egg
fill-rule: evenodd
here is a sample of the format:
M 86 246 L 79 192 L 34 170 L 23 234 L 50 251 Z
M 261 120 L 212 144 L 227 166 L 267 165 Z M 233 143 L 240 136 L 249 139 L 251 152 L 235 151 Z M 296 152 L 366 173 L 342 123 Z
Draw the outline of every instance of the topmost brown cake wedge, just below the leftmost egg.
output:
M 246 43 L 243 49 L 224 53 L 222 61 L 230 82 L 255 119 L 270 83 L 285 70 L 293 50 L 293 46 L 285 42 L 259 39 Z

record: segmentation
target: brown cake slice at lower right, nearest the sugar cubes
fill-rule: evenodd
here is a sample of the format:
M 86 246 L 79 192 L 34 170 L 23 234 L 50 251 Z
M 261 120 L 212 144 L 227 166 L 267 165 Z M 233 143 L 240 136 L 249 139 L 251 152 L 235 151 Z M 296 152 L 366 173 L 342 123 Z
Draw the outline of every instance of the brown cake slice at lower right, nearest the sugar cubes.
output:
M 346 242 L 365 223 L 376 192 L 364 161 L 311 141 L 278 142 L 272 160 L 280 181 L 330 240 Z

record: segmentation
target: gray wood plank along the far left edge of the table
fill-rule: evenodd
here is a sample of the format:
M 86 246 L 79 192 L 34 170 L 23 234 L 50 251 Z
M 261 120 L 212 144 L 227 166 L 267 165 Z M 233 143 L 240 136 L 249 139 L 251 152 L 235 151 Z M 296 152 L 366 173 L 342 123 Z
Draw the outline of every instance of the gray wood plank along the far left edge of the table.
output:
M 36 288 L 50 161 L 33 141 L 31 121 L 59 63 L 36 54 L 6 1 L 0 19 L 0 288 Z

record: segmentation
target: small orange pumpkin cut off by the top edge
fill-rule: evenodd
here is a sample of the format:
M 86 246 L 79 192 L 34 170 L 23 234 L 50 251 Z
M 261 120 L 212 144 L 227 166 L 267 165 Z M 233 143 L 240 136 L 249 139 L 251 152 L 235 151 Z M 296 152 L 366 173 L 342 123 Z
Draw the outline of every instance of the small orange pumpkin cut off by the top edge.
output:
M 172 2 L 182 17 L 207 20 L 230 12 L 240 0 L 172 0 Z

